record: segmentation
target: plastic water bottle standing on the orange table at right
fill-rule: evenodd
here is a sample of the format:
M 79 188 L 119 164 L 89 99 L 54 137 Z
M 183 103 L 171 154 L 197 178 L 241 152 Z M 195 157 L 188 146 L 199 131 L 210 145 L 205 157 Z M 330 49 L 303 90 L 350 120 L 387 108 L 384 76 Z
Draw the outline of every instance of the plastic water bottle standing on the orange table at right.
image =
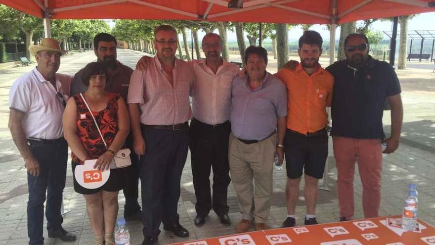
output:
M 402 228 L 405 231 L 414 231 L 417 225 L 417 186 L 409 184 L 408 198 L 405 200 L 402 214 Z

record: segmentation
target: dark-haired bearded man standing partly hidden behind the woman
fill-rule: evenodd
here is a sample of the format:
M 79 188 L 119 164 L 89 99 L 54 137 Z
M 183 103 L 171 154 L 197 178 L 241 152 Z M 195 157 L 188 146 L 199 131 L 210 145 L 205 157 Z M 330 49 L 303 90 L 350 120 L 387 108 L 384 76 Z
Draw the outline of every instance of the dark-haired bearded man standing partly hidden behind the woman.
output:
M 116 59 L 116 46 L 117 42 L 115 37 L 107 33 L 99 33 L 95 35 L 93 39 L 94 53 L 95 56 L 97 56 L 97 62 L 105 64 L 107 68 L 108 77 L 106 78 L 106 90 L 108 92 L 120 94 L 124 101 L 127 101 L 130 77 L 133 70 Z M 82 82 L 83 71 L 84 69 L 81 69 L 74 75 L 71 82 L 71 96 L 87 90 L 87 86 Z M 131 149 L 131 166 L 128 167 L 128 183 L 126 183 L 126 187 L 123 190 L 124 196 L 126 197 L 124 217 L 127 221 L 141 221 L 142 211 L 137 202 L 139 189 L 139 159 L 132 148 L 131 134 L 126 140 L 126 146 Z

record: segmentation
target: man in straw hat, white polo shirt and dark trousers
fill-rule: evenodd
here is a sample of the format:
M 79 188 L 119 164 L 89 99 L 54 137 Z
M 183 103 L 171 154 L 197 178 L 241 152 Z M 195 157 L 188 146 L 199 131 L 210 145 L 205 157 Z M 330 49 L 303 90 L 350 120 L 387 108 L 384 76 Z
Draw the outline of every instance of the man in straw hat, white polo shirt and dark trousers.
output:
M 56 40 L 43 39 L 40 45 L 31 45 L 29 50 L 38 65 L 12 85 L 8 124 L 27 169 L 29 244 L 44 244 L 45 192 L 48 237 L 75 241 L 76 236 L 62 228 L 60 212 L 68 159 L 62 115 L 70 94 L 71 77 L 56 73 L 64 53 Z

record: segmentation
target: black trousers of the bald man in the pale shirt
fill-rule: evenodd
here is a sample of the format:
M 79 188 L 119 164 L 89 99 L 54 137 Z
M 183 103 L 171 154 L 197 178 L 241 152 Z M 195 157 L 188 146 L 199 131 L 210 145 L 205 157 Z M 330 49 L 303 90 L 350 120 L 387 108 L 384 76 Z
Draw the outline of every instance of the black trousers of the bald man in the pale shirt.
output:
M 198 215 L 208 215 L 212 207 L 217 215 L 228 213 L 226 200 L 230 183 L 228 174 L 230 132 L 231 125 L 228 121 L 217 126 L 196 119 L 192 119 L 190 123 L 189 147 L 196 196 L 195 209 Z M 213 198 L 210 193 L 211 168 L 213 168 Z

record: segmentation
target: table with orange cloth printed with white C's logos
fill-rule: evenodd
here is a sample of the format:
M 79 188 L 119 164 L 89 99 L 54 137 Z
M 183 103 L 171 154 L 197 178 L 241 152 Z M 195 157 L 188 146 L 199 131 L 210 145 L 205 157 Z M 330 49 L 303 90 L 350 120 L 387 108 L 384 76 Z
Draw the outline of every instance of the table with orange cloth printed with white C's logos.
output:
M 435 228 L 420 219 L 418 223 L 421 232 L 403 232 L 387 226 L 387 217 L 378 217 L 248 232 L 174 245 L 435 245 Z

